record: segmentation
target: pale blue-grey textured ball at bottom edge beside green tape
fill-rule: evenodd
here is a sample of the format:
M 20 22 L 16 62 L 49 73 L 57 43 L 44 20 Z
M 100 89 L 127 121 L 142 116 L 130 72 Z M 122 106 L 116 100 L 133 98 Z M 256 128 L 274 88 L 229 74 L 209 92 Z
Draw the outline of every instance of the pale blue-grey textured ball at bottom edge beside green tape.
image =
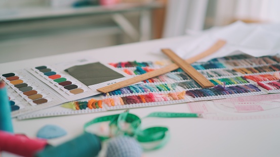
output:
M 106 157 L 141 157 L 142 148 L 132 137 L 119 136 L 110 139 Z

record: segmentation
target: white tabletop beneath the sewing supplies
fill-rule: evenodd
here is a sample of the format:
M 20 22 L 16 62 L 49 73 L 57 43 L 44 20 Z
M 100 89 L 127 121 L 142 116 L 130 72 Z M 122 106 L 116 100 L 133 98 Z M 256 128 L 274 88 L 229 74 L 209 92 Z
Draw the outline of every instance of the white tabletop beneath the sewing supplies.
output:
M 11 72 L 47 63 L 61 62 L 60 59 L 74 59 L 76 56 L 91 56 L 103 62 L 119 61 L 155 61 L 166 59 L 164 55 L 153 54 L 159 48 L 168 47 L 171 43 L 190 40 L 189 37 L 176 37 L 111 46 L 69 53 L 58 56 L 36 58 L 24 61 L 0 64 L 0 72 Z M 51 63 L 49 63 L 51 62 Z M 161 107 L 131 109 L 130 113 L 144 117 L 155 111 L 188 112 L 185 104 L 174 104 Z M 118 114 L 122 110 L 39 118 L 32 120 L 13 120 L 16 133 L 35 137 L 39 128 L 46 124 L 59 125 L 68 134 L 64 137 L 49 140 L 50 144 L 59 144 L 83 132 L 83 125 L 96 117 Z M 146 126 L 163 125 L 169 127 L 171 139 L 162 149 L 145 152 L 144 156 L 279 156 L 280 118 L 221 121 L 207 119 L 147 119 Z

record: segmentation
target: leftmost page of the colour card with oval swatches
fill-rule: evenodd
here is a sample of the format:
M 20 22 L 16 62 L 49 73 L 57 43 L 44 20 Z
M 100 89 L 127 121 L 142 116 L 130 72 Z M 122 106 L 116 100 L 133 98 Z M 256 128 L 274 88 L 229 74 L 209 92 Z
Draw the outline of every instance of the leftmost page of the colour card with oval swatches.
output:
M 2 74 L 7 83 L 12 117 L 63 103 L 63 99 L 26 70 Z

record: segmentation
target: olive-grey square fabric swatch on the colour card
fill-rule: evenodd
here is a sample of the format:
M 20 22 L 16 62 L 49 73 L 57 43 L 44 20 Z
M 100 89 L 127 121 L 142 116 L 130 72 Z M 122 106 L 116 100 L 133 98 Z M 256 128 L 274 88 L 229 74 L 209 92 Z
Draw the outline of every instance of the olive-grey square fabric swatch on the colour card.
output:
M 87 86 L 125 77 L 99 62 L 73 66 L 64 71 Z

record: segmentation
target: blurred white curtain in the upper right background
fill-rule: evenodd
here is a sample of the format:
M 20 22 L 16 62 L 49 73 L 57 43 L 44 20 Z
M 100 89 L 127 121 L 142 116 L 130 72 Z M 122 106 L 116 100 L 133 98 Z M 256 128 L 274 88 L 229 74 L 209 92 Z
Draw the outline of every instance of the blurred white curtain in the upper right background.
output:
M 164 37 L 191 34 L 235 20 L 280 22 L 279 0 L 170 0 Z

